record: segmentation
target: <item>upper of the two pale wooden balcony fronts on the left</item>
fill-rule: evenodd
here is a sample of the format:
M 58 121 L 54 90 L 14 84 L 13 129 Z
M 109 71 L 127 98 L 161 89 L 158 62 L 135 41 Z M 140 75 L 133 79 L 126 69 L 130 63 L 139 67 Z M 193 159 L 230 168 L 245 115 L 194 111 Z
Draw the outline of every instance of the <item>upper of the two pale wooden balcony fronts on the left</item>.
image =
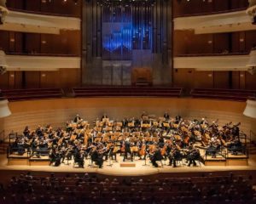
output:
M 67 15 L 54 15 L 38 12 L 24 12 L 23 10 L 9 10 L 3 31 L 20 31 L 45 34 L 60 34 L 61 30 L 80 30 L 81 20 Z

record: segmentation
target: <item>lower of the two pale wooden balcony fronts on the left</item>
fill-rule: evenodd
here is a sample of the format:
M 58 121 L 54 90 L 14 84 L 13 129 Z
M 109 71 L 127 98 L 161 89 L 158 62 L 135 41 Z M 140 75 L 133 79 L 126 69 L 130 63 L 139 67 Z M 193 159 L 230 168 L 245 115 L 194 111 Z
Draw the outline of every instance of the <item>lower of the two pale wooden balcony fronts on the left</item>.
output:
M 72 54 L 6 54 L 7 71 L 80 69 L 81 58 Z

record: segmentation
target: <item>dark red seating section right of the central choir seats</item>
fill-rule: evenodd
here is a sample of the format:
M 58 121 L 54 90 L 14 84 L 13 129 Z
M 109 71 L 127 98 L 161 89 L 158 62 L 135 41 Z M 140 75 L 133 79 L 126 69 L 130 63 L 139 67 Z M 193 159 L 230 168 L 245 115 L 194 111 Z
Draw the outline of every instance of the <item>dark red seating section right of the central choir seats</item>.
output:
M 190 94 L 194 98 L 246 101 L 248 98 L 256 96 L 256 90 L 195 88 L 191 90 Z

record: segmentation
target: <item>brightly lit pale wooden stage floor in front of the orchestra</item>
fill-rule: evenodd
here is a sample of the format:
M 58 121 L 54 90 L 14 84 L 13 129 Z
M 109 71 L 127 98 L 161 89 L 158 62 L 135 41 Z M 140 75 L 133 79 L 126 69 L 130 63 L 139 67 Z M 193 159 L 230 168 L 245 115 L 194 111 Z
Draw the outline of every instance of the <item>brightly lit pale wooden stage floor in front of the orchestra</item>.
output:
M 44 172 L 61 172 L 61 173 L 100 173 L 105 175 L 114 176 L 145 176 L 155 173 L 191 173 L 191 172 L 212 172 L 212 171 L 236 171 L 236 170 L 256 170 L 256 155 L 250 156 L 247 166 L 205 166 L 201 163 L 201 166 L 197 163 L 197 167 L 187 167 L 187 163 L 177 164 L 177 167 L 167 166 L 169 161 L 166 161 L 166 165 L 161 167 L 153 167 L 147 160 L 147 166 L 144 166 L 145 161 L 135 160 L 123 162 L 123 156 L 117 157 L 118 162 L 112 161 L 112 167 L 108 166 L 109 162 L 104 161 L 103 167 L 97 166 L 89 167 L 90 160 L 86 160 L 84 168 L 73 167 L 73 161 L 70 164 L 61 163 L 60 167 L 52 166 L 30 166 L 30 165 L 8 165 L 8 159 L 5 155 L 0 156 L 0 170 L 21 170 L 21 171 L 44 171 Z M 120 167 L 120 163 L 130 164 L 135 163 L 136 167 Z M 165 162 L 163 162 L 165 164 Z M 160 164 L 160 163 L 159 163 Z

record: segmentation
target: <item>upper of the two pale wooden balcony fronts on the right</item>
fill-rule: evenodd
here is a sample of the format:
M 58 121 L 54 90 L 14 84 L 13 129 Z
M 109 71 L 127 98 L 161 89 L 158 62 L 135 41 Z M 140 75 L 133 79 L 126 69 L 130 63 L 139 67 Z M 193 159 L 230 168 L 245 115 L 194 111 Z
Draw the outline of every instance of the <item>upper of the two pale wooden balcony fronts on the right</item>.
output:
M 252 31 L 256 26 L 251 23 L 246 10 L 227 13 L 205 14 L 174 19 L 174 30 L 194 30 L 195 34 Z

